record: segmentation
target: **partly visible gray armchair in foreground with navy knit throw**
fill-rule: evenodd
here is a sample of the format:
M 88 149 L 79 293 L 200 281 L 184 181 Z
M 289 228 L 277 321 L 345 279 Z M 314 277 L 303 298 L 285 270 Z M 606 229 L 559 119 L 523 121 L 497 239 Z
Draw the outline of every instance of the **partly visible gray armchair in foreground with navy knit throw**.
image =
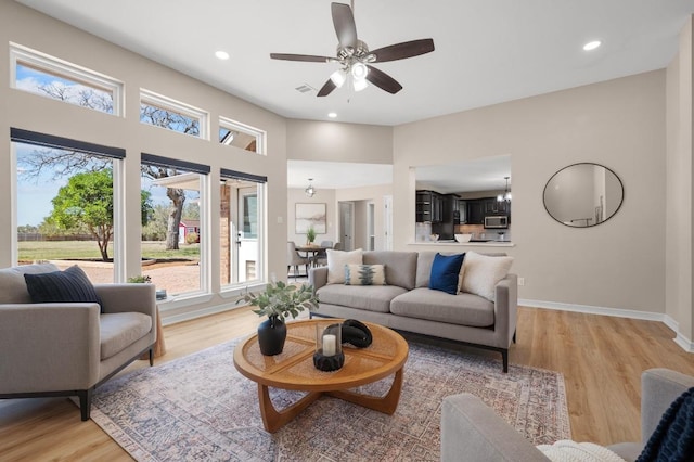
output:
M 641 442 L 608 448 L 634 461 L 670 403 L 694 386 L 694 377 L 667 369 L 650 369 L 641 375 Z M 548 461 L 542 452 L 509 426 L 479 398 L 471 394 L 446 397 L 441 408 L 441 460 Z

